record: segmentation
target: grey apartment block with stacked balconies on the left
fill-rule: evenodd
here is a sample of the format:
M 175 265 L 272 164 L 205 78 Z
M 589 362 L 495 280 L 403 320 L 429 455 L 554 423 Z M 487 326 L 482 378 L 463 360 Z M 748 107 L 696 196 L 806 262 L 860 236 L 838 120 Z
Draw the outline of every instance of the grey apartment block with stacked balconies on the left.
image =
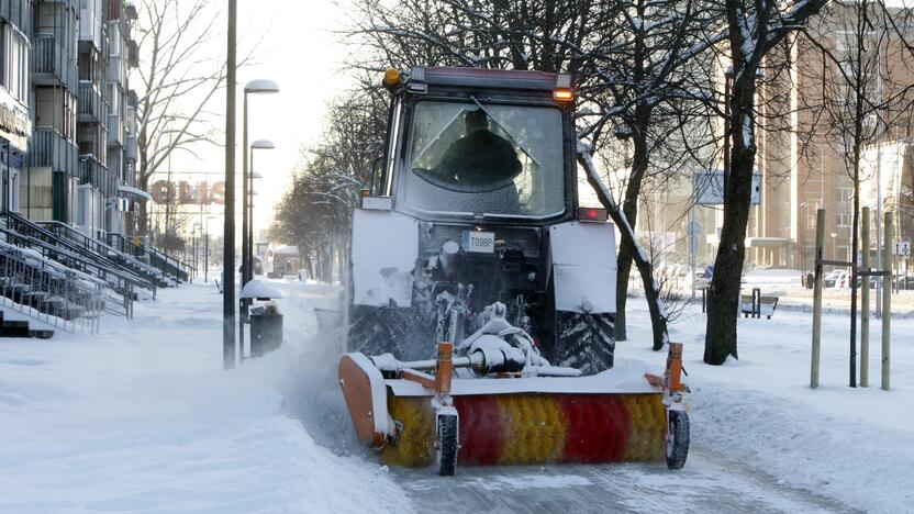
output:
M 93 237 L 126 236 L 134 188 L 137 65 L 123 0 L 0 0 L 2 205 Z M 131 103 L 133 100 L 133 104 Z

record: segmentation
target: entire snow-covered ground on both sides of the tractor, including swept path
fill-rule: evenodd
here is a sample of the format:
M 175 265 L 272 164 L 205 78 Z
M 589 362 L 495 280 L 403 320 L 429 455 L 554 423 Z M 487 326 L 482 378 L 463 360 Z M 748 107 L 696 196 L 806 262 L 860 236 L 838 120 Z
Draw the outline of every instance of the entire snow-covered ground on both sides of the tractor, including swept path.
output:
M 826 316 L 823 387 L 811 391 L 801 313 L 740 321 L 743 360 L 700 364 L 686 468 L 551 466 L 388 470 L 354 442 L 336 351 L 315 337 L 330 290 L 277 282 L 286 345 L 221 369 L 221 297 L 161 291 L 101 336 L 0 340 L 0 512 L 905 512 L 914 450 L 914 321 L 894 325 L 891 393 L 850 390 L 846 320 Z M 660 367 L 637 301 L 620 358 Z M 874 324 L 878 328 L 878 323 Z M 872 340 L 878 342 L 878 331 Z M 878 379 L 873 345 L 872 381 Z

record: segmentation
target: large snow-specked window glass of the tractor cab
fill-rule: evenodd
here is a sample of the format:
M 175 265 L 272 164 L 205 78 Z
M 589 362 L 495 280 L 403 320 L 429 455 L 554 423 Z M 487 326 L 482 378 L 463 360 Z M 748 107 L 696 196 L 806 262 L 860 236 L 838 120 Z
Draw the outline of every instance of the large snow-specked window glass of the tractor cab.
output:
M 476 215 L 565 211 L 558 109 L 424 101 L 413 119 L 404 185 L 411 206 Z

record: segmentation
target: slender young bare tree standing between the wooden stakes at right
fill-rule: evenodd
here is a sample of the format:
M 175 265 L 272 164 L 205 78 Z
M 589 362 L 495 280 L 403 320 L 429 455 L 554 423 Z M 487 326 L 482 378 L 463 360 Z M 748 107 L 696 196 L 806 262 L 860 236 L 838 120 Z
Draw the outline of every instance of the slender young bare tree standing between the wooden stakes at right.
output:
M 863 150 L 894 125 L 910 123 L 914 100 L 914 68 L 911 37 L 914 26 L 910 12 L 889 9 L 882 1 L 859 0 L 829 5 L 817 23 L 807 29 L 809 45 L 821 59 L 802 72 L 818 79 L 821 89 L 807 93 L 807 108 L 820 113 L 810 134 L 844 161 L 844 171 L 854 187 L 850 260 L 851 312 L 857 312 L 857 249 L 860 246 L 860 185 L 878 180 L 862 169 Z M 836 34 L 834 46 L 827 35 Z M 881 159 L 881 155 L 877 155 Z M 877 188 L 882 186 L 877 182 Z M 900 191 L 896 192 L 896 194 Z M 896 199 L 898 200 L 898 199 Z M 869 248 L 863 248 L 869 252 Z M 856 356 L 857 316 L 850 316 L 850 355 Z M 851 384 L 856 375 L 851 367 Z

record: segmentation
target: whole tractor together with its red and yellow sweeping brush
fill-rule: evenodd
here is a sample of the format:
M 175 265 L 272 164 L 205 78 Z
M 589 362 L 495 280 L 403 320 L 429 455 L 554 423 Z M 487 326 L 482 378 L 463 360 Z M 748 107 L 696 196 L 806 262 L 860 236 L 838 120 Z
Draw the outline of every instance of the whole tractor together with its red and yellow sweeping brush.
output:
M 388 463 L 684 465 L 681 345 L 613 368 L 615 235 L 578 205 L 568 75 L 388 70 L 339 383 Z

